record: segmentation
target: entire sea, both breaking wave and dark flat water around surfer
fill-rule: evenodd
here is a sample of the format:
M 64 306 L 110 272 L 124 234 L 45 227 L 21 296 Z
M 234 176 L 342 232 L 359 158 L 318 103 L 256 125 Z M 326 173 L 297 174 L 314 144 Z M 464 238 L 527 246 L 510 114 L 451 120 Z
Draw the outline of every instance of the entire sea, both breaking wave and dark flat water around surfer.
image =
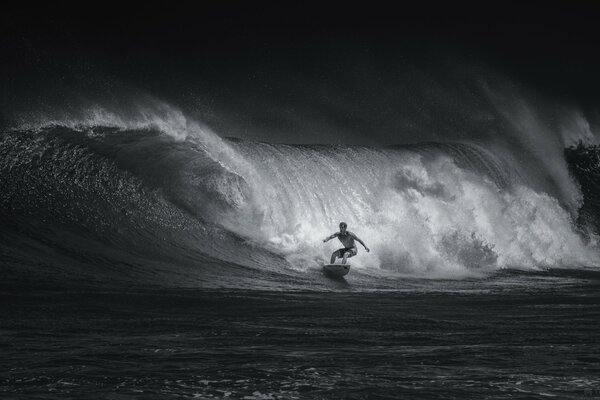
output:
M 600 397 L 596 147 L 168 116 L 1 133 L 3 398 Z M 340 221 L 371 252 L 331 279 Z

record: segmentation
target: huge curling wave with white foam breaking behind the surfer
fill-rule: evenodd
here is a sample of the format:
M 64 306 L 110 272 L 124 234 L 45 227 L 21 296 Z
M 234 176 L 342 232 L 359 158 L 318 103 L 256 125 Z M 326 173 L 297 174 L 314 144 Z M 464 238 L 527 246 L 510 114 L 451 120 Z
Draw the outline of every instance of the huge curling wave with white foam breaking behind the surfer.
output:
M 285 145 L 189 120 L 48 122 L 0 137 L 5 280 L 317 288 L 340 221 L 371 248 L 352 260 L 366 286 L 597 265 L 594 234 L 522 175 L 468 142 Z

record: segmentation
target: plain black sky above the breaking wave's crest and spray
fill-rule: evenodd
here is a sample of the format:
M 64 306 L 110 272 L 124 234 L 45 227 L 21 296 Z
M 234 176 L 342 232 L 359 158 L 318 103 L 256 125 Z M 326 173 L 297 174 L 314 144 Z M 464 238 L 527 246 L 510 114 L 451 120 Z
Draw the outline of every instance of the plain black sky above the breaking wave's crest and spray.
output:
M 406 115 L 438 101 L 431 92 L 457 73 L 491 69 L 587 111 L 600 89 L 600 6 L 584 3 L 3 8 L 5 121 L 82 93 L 115 101 L 127 88 L 225 135 L 316 141 L 310 132 L 328 129 L 360 142 L 357 132 L 374 127 L 394 142 L 393 132 L 419 124 Z M 398 100 L 408 97 L 417 100 Z M 410 112 L 395 118 L 398 109 Z

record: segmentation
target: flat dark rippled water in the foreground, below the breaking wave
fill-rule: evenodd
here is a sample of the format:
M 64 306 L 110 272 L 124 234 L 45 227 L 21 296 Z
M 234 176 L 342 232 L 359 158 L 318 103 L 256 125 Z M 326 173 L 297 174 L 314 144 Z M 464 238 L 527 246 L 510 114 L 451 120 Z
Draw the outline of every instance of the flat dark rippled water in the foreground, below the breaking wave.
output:
M 2 398 L 593 398 L 594 279 L 523 291 L 4 290 Z

